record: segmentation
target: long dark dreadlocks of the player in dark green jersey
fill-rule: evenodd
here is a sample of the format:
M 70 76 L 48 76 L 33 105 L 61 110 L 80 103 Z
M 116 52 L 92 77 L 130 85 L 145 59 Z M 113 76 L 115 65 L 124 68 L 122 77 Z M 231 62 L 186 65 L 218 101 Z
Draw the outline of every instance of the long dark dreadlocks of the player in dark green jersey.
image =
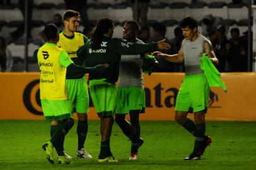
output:
M 93 50 L 100 48 L 102 39 L 108 30 L 113 28 L 113 20 L 107 17 L 100 18 L 97 21 L 95 29 L 91 32 L 91 48 Z

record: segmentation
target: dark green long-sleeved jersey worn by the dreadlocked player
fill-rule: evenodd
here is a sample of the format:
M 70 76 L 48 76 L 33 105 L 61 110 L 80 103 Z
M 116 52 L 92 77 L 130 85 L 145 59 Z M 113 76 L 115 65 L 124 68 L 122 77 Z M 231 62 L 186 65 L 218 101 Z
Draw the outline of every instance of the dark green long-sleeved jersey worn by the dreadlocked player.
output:
M 98 64 L 109 64 L 104 71 L 90 72 L 89 80 L 107 79 L 108 82 L 115 83 L 119 77 L 119 67 L 121 55 L 143 54 L 153 52 L 157 48 L 157 43 L 129 43 L 119 38 L 103 37 L 101 47 L 92 50 L 90 40 L 79 48 L 78 56 L 87 56 L 86 65 L 93 67 Z

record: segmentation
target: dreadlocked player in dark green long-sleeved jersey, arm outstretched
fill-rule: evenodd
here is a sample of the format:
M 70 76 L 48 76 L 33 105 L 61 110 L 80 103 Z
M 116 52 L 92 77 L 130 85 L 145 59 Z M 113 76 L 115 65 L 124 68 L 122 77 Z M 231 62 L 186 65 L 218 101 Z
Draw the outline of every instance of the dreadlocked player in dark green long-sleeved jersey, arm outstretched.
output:
M 157 43 L 129 43 L 119 38 L 112 38 L 113 20 L 101 18 L 92 32 L 91 40 L 79 49 L 78 55 L 87 55 L 88 66 L 108 63 L 106 71 L 89 74 L 91 99 L 101 120 L 102 142 L 98 162 L 117 162 L 110 151 L 110 135 L 113 125 L 116 86 L 119 77 L 119 64 L 122 54 L 143 54 L 156 48 L 168 49 L 170 45 L 161 40 Z M 85 54 L 84 54 L 85 53 Z

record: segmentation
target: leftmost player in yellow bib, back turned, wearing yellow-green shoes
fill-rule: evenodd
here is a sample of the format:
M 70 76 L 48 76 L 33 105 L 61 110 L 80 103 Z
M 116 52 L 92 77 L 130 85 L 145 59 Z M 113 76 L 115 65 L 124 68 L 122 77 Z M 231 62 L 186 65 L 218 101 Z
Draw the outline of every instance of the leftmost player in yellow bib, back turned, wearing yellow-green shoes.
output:
M 44 34 L 47 39 L 45 45 L 34 53 L 40 67 L 40 99 L 45 120 L 50 122 L 51 139 L 42 147 L 46 151 L 47 159 L 54 163 L 53 149 L 59 156 L 59 164 L 70 164 L 64 156 L 62 139 L 74 125 L 73 107 L 67 99 L 66 70 L 73 69 L 76 74 L 90 71 L 101 71 L 108 64 L 84 68 L 73 64 L 67 53 L 57 47 L 59 31 L 57 26 L 45 26 Z

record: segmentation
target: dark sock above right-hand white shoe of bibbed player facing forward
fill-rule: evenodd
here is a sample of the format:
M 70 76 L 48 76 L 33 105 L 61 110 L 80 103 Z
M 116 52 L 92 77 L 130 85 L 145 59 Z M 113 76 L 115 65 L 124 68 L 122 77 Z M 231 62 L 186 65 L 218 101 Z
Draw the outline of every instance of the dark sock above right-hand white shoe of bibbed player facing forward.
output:
M 87 120 L 78 120 L 78 127 L 76 129 L 78 133 L 78 150 L 81 150 L 84 147 L 84 142 L 86 140 L 86 135 L 88 132 L 88 121 Z

